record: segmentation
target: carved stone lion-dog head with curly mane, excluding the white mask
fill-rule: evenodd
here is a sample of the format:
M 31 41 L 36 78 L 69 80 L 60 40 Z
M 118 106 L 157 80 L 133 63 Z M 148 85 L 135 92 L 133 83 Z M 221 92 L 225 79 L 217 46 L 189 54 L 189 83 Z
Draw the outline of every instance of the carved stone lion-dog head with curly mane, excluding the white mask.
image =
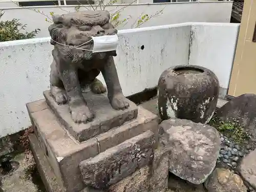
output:
M 99 59 L 109 55 L 116 56 L 115 51 L 93 54 L 92 51 L 81 50 L 93 49 L 92 36 L 117 34 L 117 30 L 110 23 L 108 11 L 81 11 L 54 15 L 53 22 L 48 28 L 52 38 L 51 44 L 59 50 L 64 58 L 71 59 L 72 62 L 79 62 L 83 59 L 90 60 L 93 56 Z M 89 40 L 91 41 L 84 44 Z M 73 48 L 75 46 L 79 46 L 81 49 Z

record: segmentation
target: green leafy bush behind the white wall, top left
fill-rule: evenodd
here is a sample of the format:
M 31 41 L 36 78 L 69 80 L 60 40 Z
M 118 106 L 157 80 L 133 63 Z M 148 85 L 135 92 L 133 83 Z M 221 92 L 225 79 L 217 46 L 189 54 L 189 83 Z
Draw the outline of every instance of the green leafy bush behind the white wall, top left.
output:
M 4 15 L 3 11 L 0 11 L 0 19 Z M 19 40 L 19 39 L 29 39 L 34 38 L 40 29 L 35 29 L 31 32 L 24 32 L 26 24 L 23 25 L 18 22 L 18 19 L 12 19 L 3 21 L 0 20 L 0 41 L 9 41 L 9 40 Z

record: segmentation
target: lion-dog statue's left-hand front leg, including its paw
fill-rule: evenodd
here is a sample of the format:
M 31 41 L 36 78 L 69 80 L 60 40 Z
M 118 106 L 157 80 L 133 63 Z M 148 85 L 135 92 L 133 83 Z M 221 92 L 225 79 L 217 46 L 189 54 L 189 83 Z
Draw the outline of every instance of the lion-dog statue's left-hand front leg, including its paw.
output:
M 77 69 L 67 62 L 62 62 L 58 65 L 58 70 L 68 96 L 72 119 L 76 123 L 92 121 L 94 114 L 82 96 Z

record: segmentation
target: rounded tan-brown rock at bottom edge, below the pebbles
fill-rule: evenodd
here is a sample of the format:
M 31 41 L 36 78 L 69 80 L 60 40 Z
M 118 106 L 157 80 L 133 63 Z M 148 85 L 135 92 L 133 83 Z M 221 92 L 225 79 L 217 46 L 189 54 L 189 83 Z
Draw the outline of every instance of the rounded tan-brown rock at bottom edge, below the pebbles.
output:
M 229 169 L 216 168 L 204 183 L 209 192 L 247 192 L 243 180 Z

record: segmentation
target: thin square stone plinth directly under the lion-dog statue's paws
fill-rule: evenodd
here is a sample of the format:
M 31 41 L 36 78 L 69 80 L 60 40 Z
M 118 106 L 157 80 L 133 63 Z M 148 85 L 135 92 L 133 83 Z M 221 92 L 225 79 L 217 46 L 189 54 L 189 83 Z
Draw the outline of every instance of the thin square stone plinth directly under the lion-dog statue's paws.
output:
M 83 96 L 89 108 L 95 113 L 95 119 L 92 122 L 78 124 L 72 120 L 68 104 L 58 105 L 50 96 L 50 91 L 45 91 L 44 96 L 59 122 L 79 142 L 120 126 L 124 122 L 137 118 L 138 115 L 137 105 L 132 101 L 130 101 L 130 108 L 114 110 L 106 94 L 93 94 L 89 91 L 83 93 Z

